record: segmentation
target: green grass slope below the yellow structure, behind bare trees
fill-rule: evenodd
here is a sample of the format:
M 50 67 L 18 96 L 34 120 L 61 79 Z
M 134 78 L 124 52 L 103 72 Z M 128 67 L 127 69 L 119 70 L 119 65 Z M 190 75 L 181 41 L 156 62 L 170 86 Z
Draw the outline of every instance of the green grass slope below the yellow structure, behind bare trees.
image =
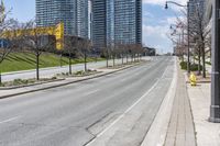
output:
M 88 58 L 88 61 L 95 61 L 95 58 Z M 103 60 L 103 58 L 98 58 L 97 60 Z M 82 58 L 73 59 L 74 64 L 84 63 Z M 68 65 L 68 58 L 62 57 L 62 65 Z M 0 64 L 1 72 L 20 71 L 35 69 L 35 56 L 31 53 L 11 53 Z M 40 68 L 56 67 L 61 66 L 61 57 L 55 54 L 44 53 L 40 57 Z

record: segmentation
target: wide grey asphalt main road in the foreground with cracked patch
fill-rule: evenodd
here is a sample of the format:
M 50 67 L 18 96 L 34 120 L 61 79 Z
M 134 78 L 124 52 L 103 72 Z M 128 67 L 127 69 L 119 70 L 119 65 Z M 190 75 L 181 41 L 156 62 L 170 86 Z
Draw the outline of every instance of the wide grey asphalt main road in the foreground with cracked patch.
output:
M 165 98 L 173 57 L 0 100 L 0 146 L 139 146 Z

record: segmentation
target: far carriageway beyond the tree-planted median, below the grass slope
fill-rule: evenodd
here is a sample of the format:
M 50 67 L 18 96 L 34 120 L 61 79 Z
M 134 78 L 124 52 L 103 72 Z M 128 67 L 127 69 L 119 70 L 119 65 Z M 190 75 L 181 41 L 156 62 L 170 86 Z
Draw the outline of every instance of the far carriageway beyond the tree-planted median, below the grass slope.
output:
M 147 58 L 147 57 L 145 57 Z M 88 68 L 89 69 L 98 69 L 100 67 L 106 66 L 106 60 L 103 61 L 92 61 L 88 63 Z M 113 61 L 109 60 L 109 65 L 112 65 Z M 121 64 L 121 59 L 116 59 L 116 64 Z M 72 66 L 73 71 L 79 71 L 84 70 L 84 64 L 77 64 Z M 69 71 L 69 66 L 63 66 L 63 67 L 51 67 L 51 68 L 41 68 L 40 69 L 40 77 L 41 78 L 51 78 L 54 77 L 57 74 L 62 72 L 68 72 Z M 30 79 L 30 78 L 35 78 L 36 77 L 36 71 L 35 69 L 32 70 L 24 70 L 24 71 L 14 71 L 14 72 L 8 72 L 2 75 L 2 81 L 11 81 L 14 79 Z

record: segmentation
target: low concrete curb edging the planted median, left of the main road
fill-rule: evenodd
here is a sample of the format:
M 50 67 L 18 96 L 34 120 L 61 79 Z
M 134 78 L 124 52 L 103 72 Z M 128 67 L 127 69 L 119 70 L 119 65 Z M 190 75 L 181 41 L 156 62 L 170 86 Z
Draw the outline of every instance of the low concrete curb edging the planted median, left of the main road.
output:
M 85 78 L 85 79 L 79 79 L 79 80 L 69 81 L 69 82 L 59 83 L 59 85 L 54 85 L 54 86 L 52 85 L 50 87 L 44 87 L 44 88 L 40 88 L 40 89 L 33 89 L 33 90 L 29 90 L 29 91 L 22 91 L 22 92 L 18 92 L 18 93 L 11 93 L 11 94 L 6 94 L 6 96 L 0 96 L 0 99 L 6 99 L 6 98 L 10 98 L 10 97 L 26 94 L 26 93 L 36 92 L 36 91 L 43 91 L 43 90 L 47 90 L 47 89 L 53 89 L 53 88 L 58 88 L 58 87 L 63 87 L 63 86 L 68 86 L 68 85 L 80 82 L 80 81 L 85 81 L 85 80 L 100 78 L 100 77 L 103 77 L 103 76 L 107 76 L 107 75 L 111 75 L 111 74 L 114 74 L 114 72 L 119 72 L 119 71 L 122 71 L 122 70 L 135 67 L 135 66 L 141 65 L 141 64 L 143 64 L 143 63 L 139 63 L 139 64 L 135 64 L 135 65 L 132 65 L 132 66 L 129 66 L 129 67 L 124 67 L 124 68 L 114 70 L 114 71 L 111 71 L 111 72 L 107 72 L 107 74 L 102 74 L 102 75 L 97 75 L 97 76 L 94 76 L 94 77 L 88 77 L 88 78 Z

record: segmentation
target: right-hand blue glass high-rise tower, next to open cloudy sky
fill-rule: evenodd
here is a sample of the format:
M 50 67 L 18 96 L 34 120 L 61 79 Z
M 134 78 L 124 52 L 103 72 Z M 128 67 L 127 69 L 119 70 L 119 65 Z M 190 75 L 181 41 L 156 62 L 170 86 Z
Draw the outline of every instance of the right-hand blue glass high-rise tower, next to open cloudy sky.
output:
M 142 0 L 92 0 L 92 42 L 102 47 L 142 43 Z

